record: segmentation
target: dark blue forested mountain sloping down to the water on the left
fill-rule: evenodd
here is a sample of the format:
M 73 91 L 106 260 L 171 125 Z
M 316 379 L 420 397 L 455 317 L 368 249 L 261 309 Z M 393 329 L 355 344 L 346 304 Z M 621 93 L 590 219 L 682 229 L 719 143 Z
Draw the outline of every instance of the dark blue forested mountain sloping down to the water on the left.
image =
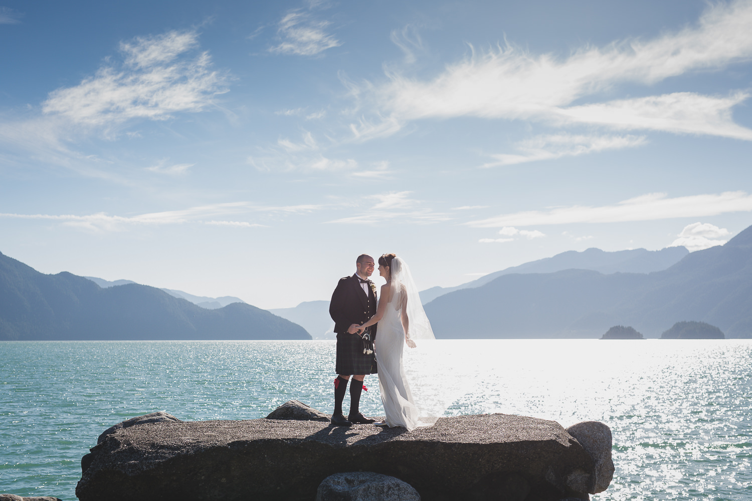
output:
M 0 340 L 310 340 L 298 324 L 246 303 L 205 309 L 159 288 L 102 288 L 39 273 L 0 253 Z

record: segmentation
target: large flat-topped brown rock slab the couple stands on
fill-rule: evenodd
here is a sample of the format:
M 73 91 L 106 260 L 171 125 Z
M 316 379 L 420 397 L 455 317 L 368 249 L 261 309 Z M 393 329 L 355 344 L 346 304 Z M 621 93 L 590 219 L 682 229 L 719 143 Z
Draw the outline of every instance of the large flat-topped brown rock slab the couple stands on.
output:
M 158 421 L 120 427 L 82 461 L 80 501 L 311 501 L 335 473 L 407 482 L 423 501 L 588 499 L 593 459 L 554 421 L 487 414 L 432 427 L 320 421 Z

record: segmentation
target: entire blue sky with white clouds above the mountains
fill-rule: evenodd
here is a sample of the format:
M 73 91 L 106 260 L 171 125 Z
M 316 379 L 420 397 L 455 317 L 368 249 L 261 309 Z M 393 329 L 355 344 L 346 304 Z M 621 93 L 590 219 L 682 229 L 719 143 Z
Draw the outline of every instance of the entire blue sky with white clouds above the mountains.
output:
M 0 2 L 0 252 L 263 308 L 752 225 L 752 2 Z

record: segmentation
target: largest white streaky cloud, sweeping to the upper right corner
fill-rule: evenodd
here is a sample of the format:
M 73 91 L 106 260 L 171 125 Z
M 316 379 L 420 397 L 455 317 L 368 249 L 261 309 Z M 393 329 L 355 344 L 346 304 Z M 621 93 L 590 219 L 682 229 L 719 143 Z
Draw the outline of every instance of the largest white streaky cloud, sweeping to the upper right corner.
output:
M 390 72 L 390 81 L 374 89 L 374 95 L 379 108 L 386 110 L 382 114 L 390 116 L 397 128 L 407 120 L 478 116 L 750 140 L 752 131 L 735 124 L 730 114 L 731 107 L 747 98 L 745 93 L 716 98 L 678 92 L 572 106 L 584 98 L 597 100 L 620 83 L 650 86 L 690 71 L 747 61 L 752 58 L 750 26 L 752 2 L 718 3 L 708 6 L 696 26 L 652 40 L 584 47 L 563 60 L 508 45 L 484 54 L 474 52 L 432 80 Z

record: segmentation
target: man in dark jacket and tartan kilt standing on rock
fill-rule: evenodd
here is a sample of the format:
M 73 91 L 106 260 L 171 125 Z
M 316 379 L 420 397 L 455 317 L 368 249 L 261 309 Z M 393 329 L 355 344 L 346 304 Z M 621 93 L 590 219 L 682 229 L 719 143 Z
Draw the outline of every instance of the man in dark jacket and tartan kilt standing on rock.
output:
M 365 374 L 375 374 L 376 355 L 373 349 L 371 353 L 364 353 L 365 344 L 361 335 L 371 335 L 371 341 L 376 338 L 376 325 L 365 329 L 362 334 L 358 333 L 360 324 L 364 324 L 376 314 L 376 286 L 368 279 L 374 272 L 374 258 L 367 254 L 358 256 L 355 262 L 356 272 L 353 276 L 345 276 L 339 279 L 337 288 L 332 294 L 329 303 L 329 315 L 335 321 L 334 331 L 337 333 L 337 363 L 335 372 L 338 374 L 334 382 L 334 413 L 332 424 L 336 426 L 350 426 L 350 424 L 369 424 L 373 419 L 362 415 L 358 406 L 362 392 L 363 378 Z M 342 400 L 344 391 L 347 389 L 347 381 L 350 382 L 350 414 L 347 419 L 342 414 Z

